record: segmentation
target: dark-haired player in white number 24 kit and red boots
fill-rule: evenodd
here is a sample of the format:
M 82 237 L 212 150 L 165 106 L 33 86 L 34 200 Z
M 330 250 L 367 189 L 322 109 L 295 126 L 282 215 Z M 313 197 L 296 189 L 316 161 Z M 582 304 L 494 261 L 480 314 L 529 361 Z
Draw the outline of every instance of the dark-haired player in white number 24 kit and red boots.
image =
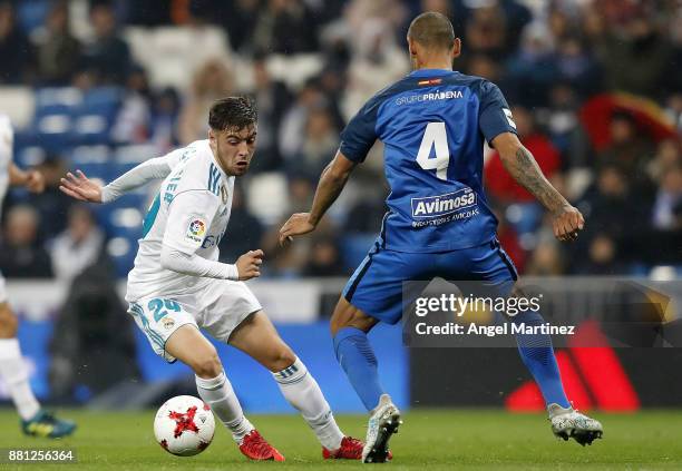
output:
M 255 150 L 255 108 L 247 98 L 221 99 L 211 108 L 208 125 L 208 139 L 148 160 L 104 188 L 77 171 L 61 180 L 61 189 L 80 200 L 107 203 L 165 178 L 145 217 L 126 294 L 128 312 L 154 351 L 194 370 L 198 394 L 250 459 L 284 457 L 244 416 L 215 347 L 198 327 L 272 372 L 314 431 L 324 458 L 360 459 L 362 442 L 340 431 L 318 383 L 243 283 L 260 276 L 263 252 L 251 251 L 234 265 L 217 261 L 234 179 L 249 170 Z

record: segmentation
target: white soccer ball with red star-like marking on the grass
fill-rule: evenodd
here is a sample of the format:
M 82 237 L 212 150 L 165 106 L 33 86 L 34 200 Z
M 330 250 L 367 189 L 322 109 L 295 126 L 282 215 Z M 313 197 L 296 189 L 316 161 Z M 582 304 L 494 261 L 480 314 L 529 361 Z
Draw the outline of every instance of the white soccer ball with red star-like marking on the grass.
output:
M 168 453 L 178 457 L 192 457 L 206 450 L 214 432 L 211 408 L 192 395 L 169 399 L 154 419 L 156 441 Z

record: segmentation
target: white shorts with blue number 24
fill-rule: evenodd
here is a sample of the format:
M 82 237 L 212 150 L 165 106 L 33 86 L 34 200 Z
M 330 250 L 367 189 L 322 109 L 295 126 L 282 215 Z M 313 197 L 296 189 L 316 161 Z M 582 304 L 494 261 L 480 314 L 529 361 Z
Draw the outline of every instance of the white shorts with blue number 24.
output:
M 137 300 L 129 304 L 128 313 L 147 336 L 154 352 L 173 363 L 176 359 L 166 352 L 165 345 L 183 325 L 201 327 L 214 338 L 227 343 L 232 331 L 250 314 L 261 310 L 261 303 L 244 283 L 215 279 L 197 292 Z

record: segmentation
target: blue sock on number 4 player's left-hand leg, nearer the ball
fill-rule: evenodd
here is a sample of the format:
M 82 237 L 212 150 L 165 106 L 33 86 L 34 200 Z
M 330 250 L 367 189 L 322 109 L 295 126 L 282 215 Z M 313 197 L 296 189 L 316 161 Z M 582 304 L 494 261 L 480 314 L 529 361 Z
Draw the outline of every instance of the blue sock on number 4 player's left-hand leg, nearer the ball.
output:
M 383 387 L 379 384 L 377 357 L 367 334 L 355 327 L 339 330 L 334 336 L 334 353 L 367 410 L 374 409 Z

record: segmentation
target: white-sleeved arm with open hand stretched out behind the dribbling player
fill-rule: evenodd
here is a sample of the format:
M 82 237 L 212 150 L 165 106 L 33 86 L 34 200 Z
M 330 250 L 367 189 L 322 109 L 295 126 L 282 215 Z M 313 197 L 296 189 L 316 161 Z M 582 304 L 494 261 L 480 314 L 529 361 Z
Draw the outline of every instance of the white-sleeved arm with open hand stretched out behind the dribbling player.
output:
M 69 173 L 61 178 L 59 189 L 72 198 L 89 203 L 110 203 L 127 192 L 139 188 L 153 179 L 166 178 L 177 159 L 168 156 L 143 161 L 106 186 L 89 179 L 82 171 Z

